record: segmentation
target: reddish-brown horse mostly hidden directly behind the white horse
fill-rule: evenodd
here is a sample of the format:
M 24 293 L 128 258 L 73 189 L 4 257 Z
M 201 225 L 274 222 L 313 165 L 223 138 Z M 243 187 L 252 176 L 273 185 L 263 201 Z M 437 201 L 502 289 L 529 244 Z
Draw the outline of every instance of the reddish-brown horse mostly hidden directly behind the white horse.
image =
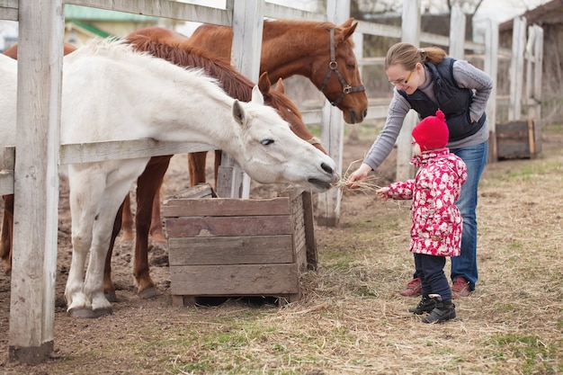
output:
M 238 73 L 228 62 L 218 60 L 204 50 L 163 44 L 151 40 L 145 35 L 136 33 L 130 34 L 126 40 L 133 45 L 134 49 L 147 51 L 157 58 L 165 58 L 175 65 L 182 67 L 201 67 L 209 76 L 217 78 L 219 84 L 222 85 L 223 89 L 231 97 L 244 102 L 250 101 L 252 97 L 254 83 L 246 78 L 246 76 Z M 259 87 L 264 95 L 264 103 L 276 108 L 281 117 L 290 123 L 294 133 L 305 140 L 313 137 L 303 124 L 299 110 L 295 104 L 291 103 L 290 99 L 282 94 L 281 91 L 272 90 L 267 74 L 261 76 Z M 282 85 L 280 85 L 280 90 L 282 90 Z M 220 126 L 220 124 L 217 124 L 217 126 Z M 317 148 L 324 151 L 320 145 L 318 145 Z M 156 197 L 171 157 L 172 156 L 151 157 L 145 171 L 139 176 L 137 181 L 137 214 L 135 216 L 136 240 L 133 274 L 137 280 L 138 293 L 141 298 L 151 298 L 159 293 L 149 275 L 147 256 L 148 231 L 151 223 L 151 213 L 153 212 L 153 203 L 157 201 Z M 111 257 L 112 247 L 115 238 L 120 232 L 120 227 L 121 210 L 115 219 L 112 241 L 104 269 L 103 290 L 110 300 L 116 299 L 111 278 Z

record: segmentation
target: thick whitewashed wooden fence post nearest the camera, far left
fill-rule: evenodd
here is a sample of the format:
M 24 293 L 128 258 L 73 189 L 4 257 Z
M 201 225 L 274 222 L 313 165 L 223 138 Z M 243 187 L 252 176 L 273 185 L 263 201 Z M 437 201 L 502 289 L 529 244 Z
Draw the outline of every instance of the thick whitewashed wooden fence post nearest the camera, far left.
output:
M 54 347 L 62 0 L 19 2 L 10 361 L 40 363 Z M 40 58 L 38 58 L 40 57 Z

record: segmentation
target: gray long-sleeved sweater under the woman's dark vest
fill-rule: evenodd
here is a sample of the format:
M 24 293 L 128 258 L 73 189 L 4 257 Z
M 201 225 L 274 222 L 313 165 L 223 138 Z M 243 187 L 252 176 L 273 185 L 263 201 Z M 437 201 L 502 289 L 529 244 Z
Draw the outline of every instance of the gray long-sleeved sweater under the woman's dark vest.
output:
M 433 94 L 433 76 L 428 69 L 425 69 L 426 81 L 423 85 L 418 87 L 418 90 L 428 95 L 434 102 L 435 97 Z M 458 85 L 462 88 L 469 88 L 474 90 L 475 96 L 471 103 L 469 112 L 472 119 L 480 119 L 485 109 L 487 108 L 488 97 L 493 88 L 493 80 L 485 72 L 473 67 L 465 60 L 456 60 L 453 63 L 453 77 Z M 370 151 L 365 156 L 363 163 L 370 165 L 371 169 L 376 170 L 383 160 L 393 149 L 397 142 L 398 133 L 403 127 L 403 121 L 407 116 L 407 112 L 411 110 L 411 105 L 407 102 L 401 94 L 398 94 L 397 87 L 393 90 L 393 99 L 389 104 L 389 112 L 385 125 L 380 132 L 380 135 L 375 139 L 371 145 Z M 487 121 L 483 127 L 475 134 L 468 138 L 463 138 L 455 142 L 448 143 L 450 148 L 469 147 L 479 145 L 488 139 Z

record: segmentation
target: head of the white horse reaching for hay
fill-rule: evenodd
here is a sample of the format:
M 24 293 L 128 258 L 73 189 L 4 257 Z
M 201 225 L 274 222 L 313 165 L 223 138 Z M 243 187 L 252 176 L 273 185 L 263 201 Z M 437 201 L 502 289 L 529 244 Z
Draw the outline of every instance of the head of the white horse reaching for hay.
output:
M 258 183 L 295 183 L 317 192 L 330 189 L 338 176 L 335 161 L 297 137 L 288 123 L 269 106 L 259 87 L 252 101 L 233 104 L 233 117 L 240 125 L 238 156 L 247 174 Z

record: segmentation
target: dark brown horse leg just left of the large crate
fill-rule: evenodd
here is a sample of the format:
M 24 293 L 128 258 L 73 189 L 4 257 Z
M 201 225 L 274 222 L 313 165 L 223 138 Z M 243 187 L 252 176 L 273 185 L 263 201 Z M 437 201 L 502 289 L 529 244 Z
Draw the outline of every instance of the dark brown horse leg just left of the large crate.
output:
M 138 294 L 142 299 L 150 299 L 160 294 L 148 271 L 148 229 L 153 211 L 153 201 L 160 191 L 166 169 L 172 156 L 152 157 L 137 180 L 137 214 L 135 215 L 135 260 L 133 275 L 138 284 Z

